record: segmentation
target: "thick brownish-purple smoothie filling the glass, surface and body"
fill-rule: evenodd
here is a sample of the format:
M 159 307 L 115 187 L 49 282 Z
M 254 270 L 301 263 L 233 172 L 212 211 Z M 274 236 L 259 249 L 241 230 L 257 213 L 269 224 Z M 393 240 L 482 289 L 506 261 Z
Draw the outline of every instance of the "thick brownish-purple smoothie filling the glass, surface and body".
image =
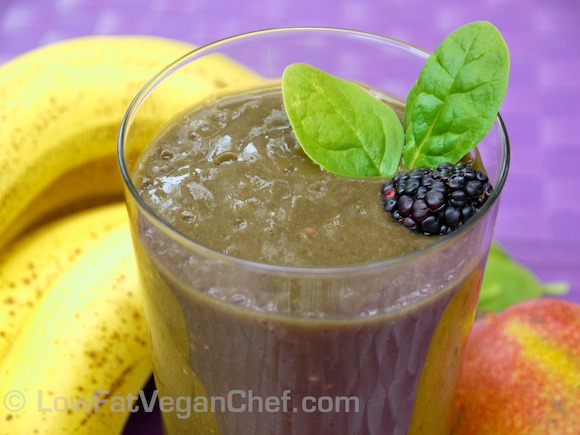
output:
M 402 117 L 400 101 L 369 92 Z M 384 179 L 339 177 L 313 163 L 296 142 L 275 82 L 176 117 L 143 154 L 133 180 L 162 220 L 208 247 L 194 254 L 139 219 L 159 395 L 245 405 L 222 409 L 218 399 L 212 411 L 199 399 L 199 412 L 163 414 L 169 434 L 448 432 L 453 373 L 485 261 L 478 246 L 487 235 L 471 231 L 441 255 L 380 277 L 348 268 L 277 270 L 371 264 L 440 238 L 387 216 Z M 219 253 L 241 260 L 223 273 Z M 265 266 L 256 274 L 246 260 Z M 263 401 L 285 391 L 287 407 L 279 400 L 278 411 L 268 412 Z M 309 396 L 315 402 L 305 409 Z M 331 409 L 321 397 L 332 399 Z

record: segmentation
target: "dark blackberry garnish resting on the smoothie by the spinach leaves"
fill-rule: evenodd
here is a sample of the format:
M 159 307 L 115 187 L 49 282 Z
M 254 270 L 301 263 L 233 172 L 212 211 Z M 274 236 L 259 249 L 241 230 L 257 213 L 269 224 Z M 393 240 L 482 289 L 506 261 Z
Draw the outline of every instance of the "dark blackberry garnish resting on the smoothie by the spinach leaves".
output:
M 383 185 L 383 205 L 416 233 L 444 235 L 475 215 L 492 192 L 483 172 L 465 163 L 441 163 L 395 175 Z

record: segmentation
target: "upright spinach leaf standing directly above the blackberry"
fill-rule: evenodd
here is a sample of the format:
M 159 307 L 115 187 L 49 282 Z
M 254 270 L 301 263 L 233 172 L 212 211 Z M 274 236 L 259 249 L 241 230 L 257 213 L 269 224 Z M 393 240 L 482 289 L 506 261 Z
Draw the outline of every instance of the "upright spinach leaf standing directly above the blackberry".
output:
M 407 97 L 407 168 L 455 164 L 483 139 L 505 95 L 509 64 L 505 41 L 488 22 L 466 24 L 443 40 Z

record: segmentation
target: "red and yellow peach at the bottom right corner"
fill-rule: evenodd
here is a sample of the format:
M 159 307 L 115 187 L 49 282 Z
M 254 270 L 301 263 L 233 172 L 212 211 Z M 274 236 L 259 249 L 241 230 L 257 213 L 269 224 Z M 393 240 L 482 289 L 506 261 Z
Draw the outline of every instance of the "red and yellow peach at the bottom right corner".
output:
M 580 434 L 580 305 L 540 298 L 475 322 L 453 435 Z

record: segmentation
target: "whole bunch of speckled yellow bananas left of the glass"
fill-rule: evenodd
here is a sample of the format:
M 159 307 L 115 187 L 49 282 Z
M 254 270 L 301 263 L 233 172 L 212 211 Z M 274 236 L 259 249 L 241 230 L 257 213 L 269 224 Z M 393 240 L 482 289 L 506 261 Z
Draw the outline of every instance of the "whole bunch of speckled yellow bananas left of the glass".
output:
M 0 435 L 118 434 L 129 409 L 96 412 L 94 392 L 136 395 L 151 375 L 116 138 L 139 89 L 193 48 L 87 37 L 0 67 Z M 189 74 L 158 110 L 255 77 L 226 58 Z

